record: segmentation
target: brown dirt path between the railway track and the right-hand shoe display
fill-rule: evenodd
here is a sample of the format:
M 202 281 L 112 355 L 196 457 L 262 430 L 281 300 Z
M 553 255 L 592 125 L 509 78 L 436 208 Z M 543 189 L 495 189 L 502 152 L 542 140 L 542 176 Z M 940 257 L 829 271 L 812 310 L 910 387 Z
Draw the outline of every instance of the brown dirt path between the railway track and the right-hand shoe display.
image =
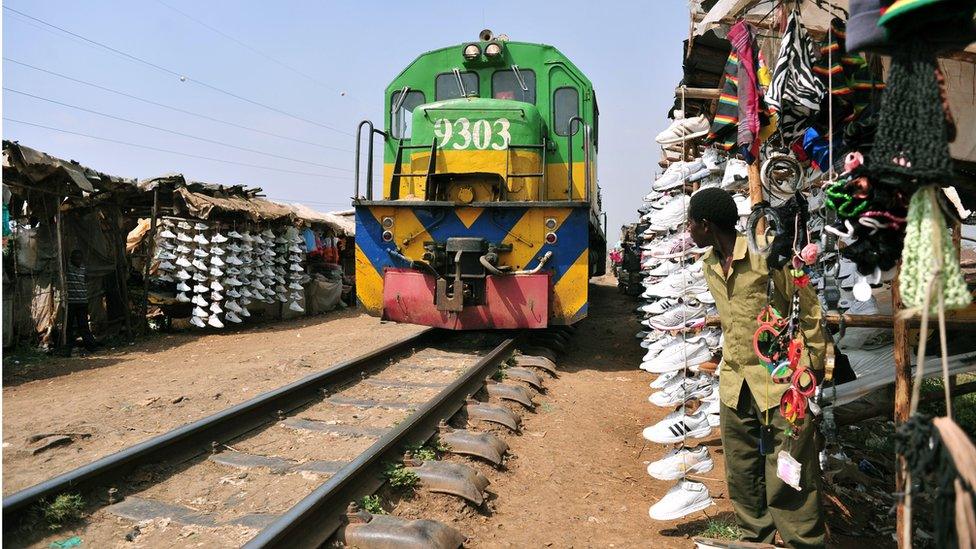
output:
M 491 480 L 488 510 L 425 494 L 396 502 L 393 514 L 447 522 L 470 547 L 687 548 L 709 517 L 731 518 L 717 429 L 700 441 L 715 468 L 695 477 L 716 505 L 676 521 L 647 516 L 674 483 L 647 474 L 670 448 L 646 442 L 641 430 L 668 410 L 647 402 L 653 376 L 637 368 L 636 304 L 615 285 L 608 277 L 590 286 L 589 318 L 558 360 L 560 377 L 543 376 L 546 393 L 523 415 L 522 434 L 498 433 L 513 456 L 506 470 L 478 464 Z

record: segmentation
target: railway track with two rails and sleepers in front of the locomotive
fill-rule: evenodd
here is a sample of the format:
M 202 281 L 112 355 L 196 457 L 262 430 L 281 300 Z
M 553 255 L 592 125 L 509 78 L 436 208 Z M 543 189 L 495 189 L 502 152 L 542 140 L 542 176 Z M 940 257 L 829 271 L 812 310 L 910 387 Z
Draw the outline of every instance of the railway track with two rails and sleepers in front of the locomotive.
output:
M 551 358 L 548 349 L 563 341 L 543 334 L 536 346 L 519 346 Z M 4 545 L 40 542 L 43 534 L 23 528 L 38 505 L 81 493 L 89 546 L 140 536 L 152 546 L 319 547 L 337 536 L 450 546 L 463 537 L 443 524 L 347 510 L 383 485 L 384 470 L 405 449 L 438 433 L 449 451 L 498 465 L 507 448 L 501 439 L 444 422 L 518 429 L 518 415 L 498 401 L 530 408 L 529 387 L 541 387 L 541 377 L 509 368 L 526 383 L 490 379 L 516 347 L 515 337 L 429 329 L 334 365 L 11 494 L 3 500 Z M 520 356 L 519 366 L 554 371 L 549 358 Z M 472 400 L 476 394 L 486 402 Z M 488 481 L 463 463 L 406 465 L 422 487 L 481 505 Z M 187 532 L 197 537 L 180 537 Z

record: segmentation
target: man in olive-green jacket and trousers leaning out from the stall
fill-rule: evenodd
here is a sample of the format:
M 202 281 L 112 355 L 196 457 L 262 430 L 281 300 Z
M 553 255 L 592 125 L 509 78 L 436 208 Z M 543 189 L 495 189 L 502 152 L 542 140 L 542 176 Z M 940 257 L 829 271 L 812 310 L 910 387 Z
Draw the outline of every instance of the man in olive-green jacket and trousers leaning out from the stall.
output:
M 729 498 L 745 540 L 771 543 L 778 531 L 791 547 L 823 547 L 816 422 L 807 411 L 798 422 L 798 436 L 787 434 L 790 425 L 779 403 L 789 384 L 774 383 L 753 349 L 756 317 L 770 303 L 787 314 L 796 288 L 785 270 L 770 272 L 766 258 L 749 251 L 748 240 L 735 229 L 737 220 L 728 192 L 713 187 L 692 195 L 688 229 L 696 245 L 712 248 L 702 261 L 725 338 L 719 417 Z M 767 295 L 770 278 L 773 291 Z M 799 288 L 799 297 L 806 347 L 801 364 L 822 370 L 826 343 L 820 303 L 809 286 Z M 771 443 L 766 455 L 760 452 L 763 430 Z M 776 474 L 781 451 L 801 465 L 800 490 Z

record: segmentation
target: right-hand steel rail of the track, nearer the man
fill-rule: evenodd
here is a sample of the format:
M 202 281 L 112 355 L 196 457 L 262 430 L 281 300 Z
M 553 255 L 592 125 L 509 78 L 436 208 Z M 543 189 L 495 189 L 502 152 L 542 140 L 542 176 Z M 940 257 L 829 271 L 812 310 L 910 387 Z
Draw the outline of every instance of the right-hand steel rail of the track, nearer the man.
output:
M 403 456 L 403 448 L 429 439 L 437 423 L 448 419 L 476 393 L 485 378 L 515 349 L 515 339 L 506 339 L 433 399 L 383 435 L 365 452 L 340 469 L 305 499 L 252 538 L 245 549 L 268 547 L 319 547 L 342 526 L 348 504 L 373 493 L 384 482 L 383 467 Z

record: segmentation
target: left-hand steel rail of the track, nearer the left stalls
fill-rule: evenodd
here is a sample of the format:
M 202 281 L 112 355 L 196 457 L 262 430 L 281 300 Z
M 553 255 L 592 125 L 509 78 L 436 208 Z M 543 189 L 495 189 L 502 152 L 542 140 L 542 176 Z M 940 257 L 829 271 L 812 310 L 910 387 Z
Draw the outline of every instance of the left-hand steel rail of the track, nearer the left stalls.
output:
M 364 355 L 340 362 L 278 389 L 140 442 L 87 465 L 83 465 L 3 498 L 3 522 L 13 528 L 19 513 L 44 498 L 66 491 L 85 491 L 110 484 L 135 467 L 173 463 L 209 451 L 213 442 L 240 436 L 277 419 L 280 412 L 303 406 L 321 396 L 324 385 L 358 379 L 364 371 L 385 358 L 444 337 L 441 330 L 422 332 L 384 345 Z M 122 494 L 120 494 L 122 495 Z M 6 530 L 6 528 L 4 528 Z

